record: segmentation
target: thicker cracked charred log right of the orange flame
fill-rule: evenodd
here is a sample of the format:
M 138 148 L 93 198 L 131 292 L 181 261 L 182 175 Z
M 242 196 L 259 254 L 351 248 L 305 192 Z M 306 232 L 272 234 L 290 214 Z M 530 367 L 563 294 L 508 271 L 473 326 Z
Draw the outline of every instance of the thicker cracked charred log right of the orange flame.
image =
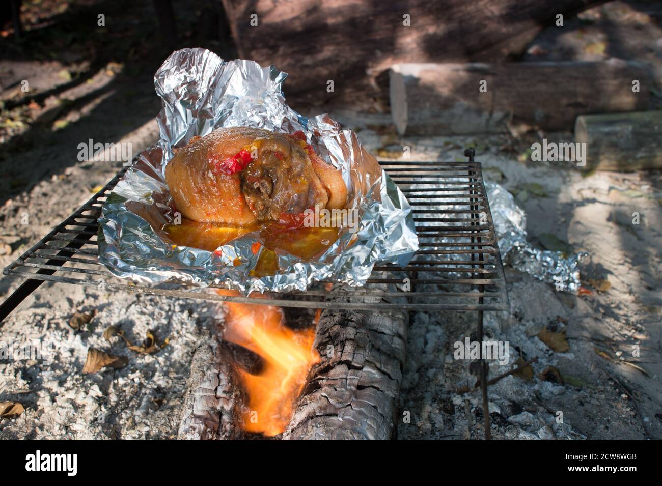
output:
M 321 361 L 283 439 L 391 438 L 407 323 L 404 311 L 322 312 L 314 342 Z

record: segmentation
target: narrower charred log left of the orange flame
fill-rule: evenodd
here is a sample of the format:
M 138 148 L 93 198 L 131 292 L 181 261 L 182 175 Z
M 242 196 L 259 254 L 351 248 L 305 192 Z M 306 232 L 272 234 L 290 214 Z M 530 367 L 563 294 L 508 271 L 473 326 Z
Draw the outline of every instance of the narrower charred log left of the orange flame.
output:
M 232 370 L 232 350 L 209 333 L 203 333 L 200 342 L 191 362 L 178 438 L 237 438 L 241 388 Z

